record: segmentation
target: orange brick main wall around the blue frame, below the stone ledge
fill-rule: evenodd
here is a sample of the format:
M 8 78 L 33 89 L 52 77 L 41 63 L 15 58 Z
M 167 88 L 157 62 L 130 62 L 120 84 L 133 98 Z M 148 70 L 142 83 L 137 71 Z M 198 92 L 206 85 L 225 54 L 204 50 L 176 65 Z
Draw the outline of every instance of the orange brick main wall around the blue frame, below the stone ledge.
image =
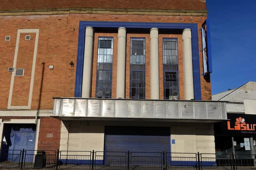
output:
M 76 57 L 78 47 L 78 29 L 79 21 L 133 21 L 133 22 L 172 22 L 172 23 L 198 23 L 200 25 L 206 19 L 205 16 L 149 16 L 149 15 L 114 15 L 114 14 L 70 14 L 70 15 L 44 15 L 44 16 L 0 16 L 0 63 L 4 65 L 0 69 L 0 109 L 7 108 L 8 95 L 10 90 L 11 73 L 8 72 L 8 66 L 13 65 L 16 36 L 18 29 L 40 29 L 38 41 L 38 53 L 36 59 L 36 73 L 34 79 L 34 90 L 32 96 L 32 109 L 37 109 L 40 101 L 40 109 L 52 109 L 54 100 L 52 97 L 74 97 L 74 86 L 76 76 Z M 116 29 L 116 33 L 118 30 Z M 114 43 L 117 43 L 116 33 L 111 34 L 114 37 Z M 11 35 L 11 41 L 4 41 L 6 35 Z M 96 34 L 97 35 L 97 34 Z M 96 37 L 95 35 L 95 37 Z M 106 34 L 105 34 L 106 35 Z M 105 36 L 104 35 L 104 36 Z M 103 36 L 103 34 L 102 34 Z M 150 34 L 145 35 L 127 34 L 127 51 L 126 51 L 126 98 L 129 97 L 130 82 L 130 38 L 131 36 L 146 37 L 146 84 L 150 84 Z M 161 35 L 160 35 L 161 36 Z M 202 48 L 201 33 L 198 31 L 199 51 Z M 96 38 L 95 38 L 96 39 Z M 96 45 L 98 45 L 96 43 Z M 180 41 L 179 56 L 180 52 Z M 114 45 L 115 46 L 115 45 Z M 159 50 L 160 53 L 161 49 Z M 117 52 L 114 52 L 117 53 Z M 94 58 L 95 58 L 94 51 Z M 200 72 L 202 73 L 202 52 L 200 55 Z M 116 58 L 113 56 L 113 62 Z M 159 55 L 161 57 L 161 55 Z M 70 66 L 73 61 L 74 67 Z M 94 59 L 94 61 L 96 61 Z M 42 73 L 42 62 L 45 63 L 44 73 Z M 180 61 L 179 61 L 180 62 Z M 116 63 L 116 62 L 115 62 Z M 182 63 L 182 62 L 181 62 Z M 94 63 L 95 64 L 95 63 Z M 128 65 L 127 65 L 128 64 Z M 180 63 L 179 63 L 180 64 Z M 54 65 L 54 69 L 49 69 L 49 65 Z M 180 64 L 181 66 L 181 64 Z M 96 68 L 94 65 L 93 68 Z M 113 73 L 116 73 L 116 66 L 113 65 Z M 116 75 L 113 74 L 112 96 L 116 93 Z M 160 70 L 160 74 L 162 71 Z M 180 78 L 182 78 L 182 69 L 180 67 Z M 42 79 L 42 75 L 43 79 Z M 200 75 L 201 76 L 201 75 Z M 95 70 L 93 78 L 96 77 Z M 161 79 L 161 77 L 160 77 Z M 42 89 L 41 89 L 42 82 Z M 180 84 L 182 80 L 180 80 Z M 92 81 L 92 83 L 94 83 Z M 161 81 L 160 81 L 161 83 Z M 95 83 L 94 83 L 95 84 Z M 95 88 L 95 85 L 92 86 Z M 202 99 L 211 98 L 210 82 L 201 76 Z M 162 84 L 160 84 L 160 90 Z M 180 86 L 180 89 L 182 87 Z M 93 90 L 93 89 L 92 89 Z M 160 91 L 160 95 L 162 92 Z M 182 91 L 180 92 L 182 98 Z M 92 94 L 92 97 L 95 96 Z M 146 98 L 150 98 L 150 86 L 146 88 Z

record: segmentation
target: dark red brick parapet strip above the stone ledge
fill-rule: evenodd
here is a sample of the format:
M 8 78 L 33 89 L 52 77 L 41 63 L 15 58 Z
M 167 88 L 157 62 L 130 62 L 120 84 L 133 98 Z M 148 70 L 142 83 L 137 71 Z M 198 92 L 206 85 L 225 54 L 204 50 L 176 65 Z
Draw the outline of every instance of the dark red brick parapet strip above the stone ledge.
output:
M 124 8 L 160 10 L 205 10 L 204 0 L 4 0 L 0 10 L 54 8 Z

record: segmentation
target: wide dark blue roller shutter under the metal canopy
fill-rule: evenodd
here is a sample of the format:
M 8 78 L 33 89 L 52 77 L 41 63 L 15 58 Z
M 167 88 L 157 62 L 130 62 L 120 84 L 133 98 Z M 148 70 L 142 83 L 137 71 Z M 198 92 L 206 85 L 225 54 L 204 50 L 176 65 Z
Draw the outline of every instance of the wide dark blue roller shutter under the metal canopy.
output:
M 105 127 L 105 152 L 170 152 L 170 127 Z

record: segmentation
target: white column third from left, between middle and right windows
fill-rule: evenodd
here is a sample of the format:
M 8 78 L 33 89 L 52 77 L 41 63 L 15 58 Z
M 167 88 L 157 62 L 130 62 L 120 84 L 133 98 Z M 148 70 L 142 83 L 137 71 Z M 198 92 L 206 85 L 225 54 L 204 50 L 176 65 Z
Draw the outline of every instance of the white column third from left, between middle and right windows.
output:
M 150 98 L 159 99 L 158 29 L 150 29 Z

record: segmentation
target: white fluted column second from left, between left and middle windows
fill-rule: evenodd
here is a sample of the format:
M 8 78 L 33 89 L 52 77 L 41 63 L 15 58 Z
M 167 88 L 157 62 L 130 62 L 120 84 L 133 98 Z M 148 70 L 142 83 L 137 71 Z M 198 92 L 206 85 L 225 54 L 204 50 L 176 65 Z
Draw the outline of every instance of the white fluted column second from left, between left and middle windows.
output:
M 125 98 L 126 29 L 118 28 L 116 98 Z

